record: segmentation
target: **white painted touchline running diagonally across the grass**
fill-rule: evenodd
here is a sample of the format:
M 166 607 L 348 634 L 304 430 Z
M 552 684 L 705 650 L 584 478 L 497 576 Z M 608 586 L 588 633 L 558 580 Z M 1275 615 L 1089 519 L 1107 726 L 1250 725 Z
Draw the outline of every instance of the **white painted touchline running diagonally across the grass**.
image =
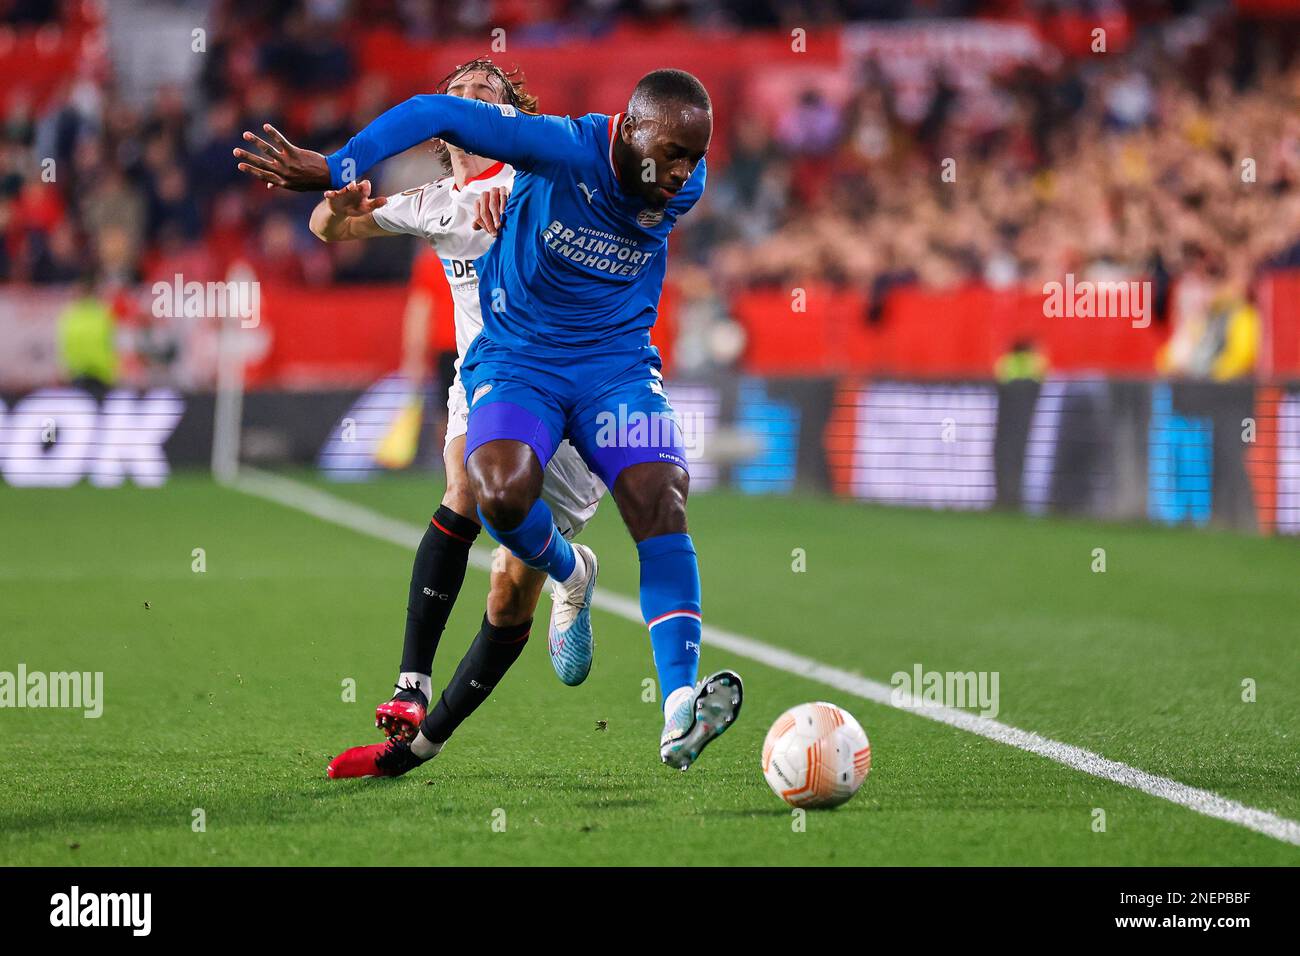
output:
M 285 505 L 286 507 L 306 511 L 315 518 L 338 524 L 359 535 L 389 541 L 402 548 L 415 549 L 424 536 L 424 528 L 415 528 L 404 522 L 387 518 L 378 511 L 354 505 L 350 501 L 337 498 L 311 485 L 278 475 L 243 468 L 239 472 L 238 480 L 231 486 L 237 490 Z M 471 551 L 469 559 L 474 567 L 481 570 L 486 571 L 491 567 L 491 553 L 485 549 L 474 549 Z M 641 618 L 641 605 L 630 597 L 599 591 L 595 593 L 594 606 L 608 614 L 630 620 L 634 624 L 644 626 L 645 623 Z M 1205 817 L 1236 823 L 1257 834 L 1300 847 L 1300 822 L 1279 817 L 1268 810 L 1260 810 L 1254 806 L 1247 806 L 1243 803 L 1230 800 L 1213 791 L 1190 787 L 1167 777 L 1149 774 L 1145 770 L 1109 760 L 1100 753 L 1086 750 L 1082 747 L 1063 744 L 1060 740 L 1052 740 L 1032 731 L 1011 727 L 1000 721 L 991 721 L 966 710 L 932 705 L 909 706 L 898 704 L 894 701 L 893 688 L 888 684 L 881 684 L 879 680 L 871 680 L 859 674 L 832 667 L 810 657 L 783 650 L 771 644 L 763 644 L 753 637 L 724 631 L 712 624 L 705 624 L 703 637 L 723 650 L 729 650 L 738 657 L 746 657 L 750 661 L 757 661 L 786 674 L 815 680 L 837 691 L 872 701 L 874 704 L 897 708 L 918 717 L 946 723 L 949 727 L 957 727 L 958 730 L 996 740 L 1000 744 L 1006 744 L 1019 750 L 1036 753 L 1040 757 L 1046 757 L 1050 761 L 1091 777 L 1141 791 L 1153 797 L 1167 800 L 1171 804 L 1186 806 L 1188 810 Z

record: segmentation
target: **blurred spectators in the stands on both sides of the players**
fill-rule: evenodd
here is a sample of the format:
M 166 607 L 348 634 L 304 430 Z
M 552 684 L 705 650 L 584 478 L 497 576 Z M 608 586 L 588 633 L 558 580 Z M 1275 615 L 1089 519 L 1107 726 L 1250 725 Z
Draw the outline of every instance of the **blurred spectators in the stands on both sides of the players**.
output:
M 367 4 L 365 20 L 420 38 L 481 30 L 484 17 L 543 30 L 530 18 L 551 7 L 590 30 L 602 17 L 767 25 L 792 9 L 815 20 L 1026 5 L 1035 4 L 390 0 Z M 0 0 L 13 23 L 58 9 Z M 214 9 L 194 88 L 162 87 L 139 107 L 118 94 L 108 64 L 87 62 L 51 108 L 9 98 L 0 280 L 70 282 L 94 265 L 101 282 L 129 286 L 178 272 L 217 278 L 235 261 L 307 284 L 407 277 L 413 247 L 325 247 L 306 230 L 315 196 L 272 202 L 230 157 L 240 130 L 261 121 L 326 147 L 391 105 L 382 79 L 356 75 L 351 7 L 230 0 Z M 928 105 L 904 118 L 870 62 L 845 96 L 810 87 L 775 114 L 741 113 L 729 161 L 711 168 L 703 202 L 684 220 L 677 242 L 688 251 L 675 273 L 723 299 L 755 286 L 849 285 L 876 310 L 901 285 L 1041 287 L 1065 273 L 1150 276 L 1157 312 L 1171 277 L 1202 297 L 1244 297 L 1261 268 L 1300 265 L 1300 64 L 1213 25 L 1199 42 L 1167 39 L 1152 27 L 1124 53 L 997 77 L 997 108 L 978 117 L 937 68 Z M 320 98 L 306 121 L 289 122 L 295 91 L 343 85 L 356 85 L 348 112 Z

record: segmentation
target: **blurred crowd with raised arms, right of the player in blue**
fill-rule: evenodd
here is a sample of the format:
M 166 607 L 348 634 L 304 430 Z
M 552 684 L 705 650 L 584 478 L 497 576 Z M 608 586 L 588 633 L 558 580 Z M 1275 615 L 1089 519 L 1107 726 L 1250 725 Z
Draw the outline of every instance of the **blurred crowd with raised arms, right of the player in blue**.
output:
M 919 282 L 1041 287 L 1066 273 L 1245 282 L 1300 264 L 1300 64 L 1135 52 L 1057 75 L 1024 70 L 1005 118 L 963 122 L 936 82 L 918 124 L 868 70 L 842 105 L 810 92 L 738 127 L 693 215 L 729 287 L 807 281 L 879 293 Z

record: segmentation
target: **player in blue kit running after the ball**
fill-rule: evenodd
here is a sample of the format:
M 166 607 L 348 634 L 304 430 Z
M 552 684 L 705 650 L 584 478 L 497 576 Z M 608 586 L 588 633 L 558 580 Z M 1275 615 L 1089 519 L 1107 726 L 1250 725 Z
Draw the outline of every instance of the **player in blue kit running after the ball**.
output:
M 270 127 L 240 169 L 273 186 L 338 189 L 430 138 L 511 164 L 516 178 L 490 250 L 474 263 L 484 332 L 460 373 L 469 395 L 465 463 L 484 528 L 568 592 L 586 587 L 592 653 L 594 568 L 555 527 L 542 476 L 568 438 L 611 489 L 641 562 L 664 728 L 659 754 L 685 770 L 741 708 L 737 674 L 697 683 L 701 588 L 686 529 L 689 476 L 680 425 L 663 389 L 650 328 L 658 317 L 668 233 L 705 187 L 712 107 L 696 77 L 654 70 L 627 112 L 577 120 L 508 104 L 415 96 L 342 150 L 321 156 Z M 428 756 L 416 737 L 389 748 L 378 771 L 398 775 Z

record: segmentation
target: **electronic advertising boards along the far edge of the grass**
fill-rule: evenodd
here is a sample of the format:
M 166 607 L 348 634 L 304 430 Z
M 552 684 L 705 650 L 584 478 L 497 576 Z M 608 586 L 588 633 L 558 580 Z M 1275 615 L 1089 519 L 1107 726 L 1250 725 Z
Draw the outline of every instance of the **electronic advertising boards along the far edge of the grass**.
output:
M 671 382 L 668 394 L 697 492 L 1300 533 L 1300 382 L 727 375 Z M 442 395 L 426 393 L 416 468 L 441 467 Z M 408 398 L 398 376 L 365 390 L 251 390 L 239 459 L 368 480 Z M 0 476 L 159 485 L 172 467 L 208 463 L 214 406 L 211 393 L 172 389 L 4 394 Z

